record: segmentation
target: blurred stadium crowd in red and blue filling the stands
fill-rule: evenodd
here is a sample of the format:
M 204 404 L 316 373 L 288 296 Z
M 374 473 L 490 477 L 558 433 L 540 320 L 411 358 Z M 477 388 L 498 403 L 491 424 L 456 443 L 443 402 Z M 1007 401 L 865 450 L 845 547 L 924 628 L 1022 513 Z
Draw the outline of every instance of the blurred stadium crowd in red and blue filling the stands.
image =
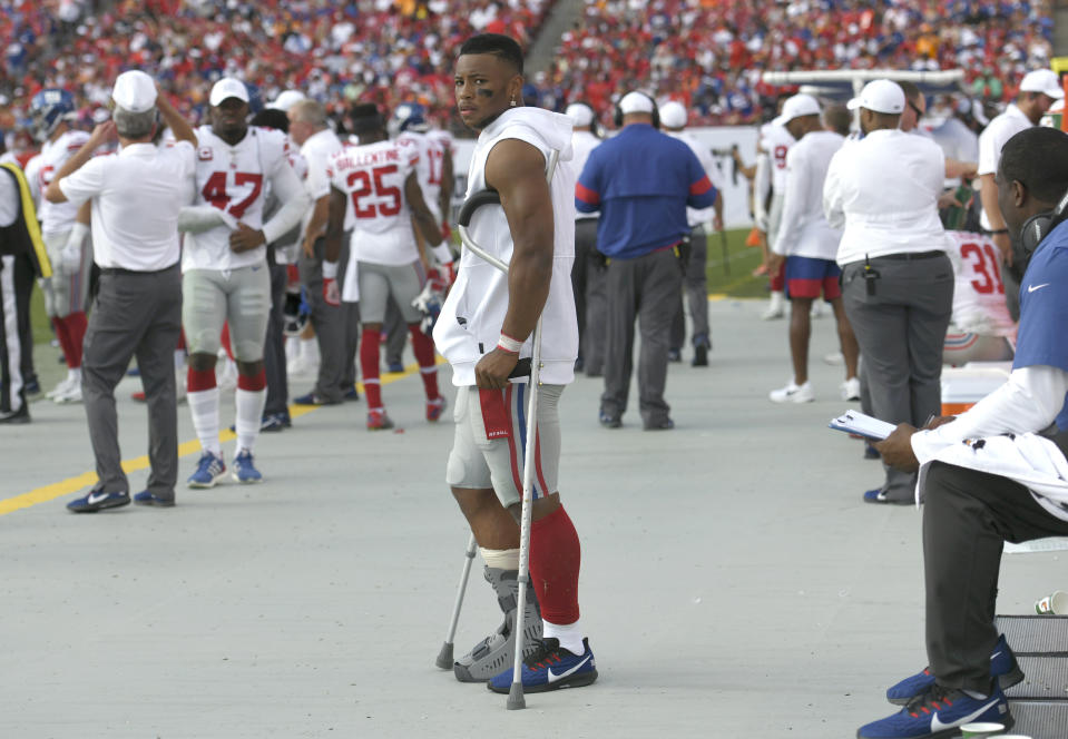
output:
M 203 120 L 204 90 L 244 79 L 266 101 L 302 89 L 339 115 L 355 101 L 417 100 L 435 122 L 452 111 L 448 60 L 478 31 L 525 47 L 552 0 L 362 0 L 349 3 L 207 0 L 3 0 L 0 130 L 25 121 L 32 96 L 62 87 L 88 124 L 126 68 L 160 78 L 178 109 Z M 694 124 L 756 122 L 773 112 L 764 70 L 871 68 L 967 72 L 976 97 L 1006 101 L 1027 69 L 1048 65 L 1051 3 L 993 0 L 586 0 L 528 102 L 562 111 L 576 99 L 609 110 L 645 87 L 694 109 Z M 711 42 L 707 42 L 709 41 Z M 255 108 L 255 105 L 254 105 Z M 607 116 L 607 114 L 605 114 Z M 607 122 L 607 117 L 606 117 Z M 30 147 L 28 140 L 11 148 Z

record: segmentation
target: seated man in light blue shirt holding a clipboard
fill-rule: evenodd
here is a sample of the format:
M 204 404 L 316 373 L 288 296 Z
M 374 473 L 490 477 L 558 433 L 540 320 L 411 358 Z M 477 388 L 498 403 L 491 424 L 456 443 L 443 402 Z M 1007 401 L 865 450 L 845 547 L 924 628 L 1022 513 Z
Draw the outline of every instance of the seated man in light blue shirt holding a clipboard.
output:
M 1068 136 L 1040 127 L 1016 134 L 1001 149 L 994 184 L 1010 236 L 1025 255 L 1033 250 L 1012 372 L 959 416 L 921 431 L 901 424 L 875 444 L 888 464 L 909 472 L 923 465 L 930 667 L 888 692 L 908 703 L 900 713 L 861 727 L 858 737 L 931 736 L 969 721 L 1012 726 L 1002 688 L 1023 674 L 994 627 L 1002 546 L 1068 535 L 1068 484 L 1058 474 L 1068 452 Z M 1045 431 L 1051 423 L 1054 434 Z

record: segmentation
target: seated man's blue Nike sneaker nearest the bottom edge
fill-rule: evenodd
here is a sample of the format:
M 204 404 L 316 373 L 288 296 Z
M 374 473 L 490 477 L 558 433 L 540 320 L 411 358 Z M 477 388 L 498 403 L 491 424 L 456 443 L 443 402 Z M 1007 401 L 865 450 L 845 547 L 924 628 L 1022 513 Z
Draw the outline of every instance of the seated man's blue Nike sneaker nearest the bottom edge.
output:
M 858 739 L 933 739 L 956 737 L 960 727 L 973 721 L 994 721 L 1006 729 L 1015 723 L 1009 702 L 998 681 L 987 698 L 972 698 L 962 690 L 933 684 L 893 716 L 872 721 L 856 730 Z

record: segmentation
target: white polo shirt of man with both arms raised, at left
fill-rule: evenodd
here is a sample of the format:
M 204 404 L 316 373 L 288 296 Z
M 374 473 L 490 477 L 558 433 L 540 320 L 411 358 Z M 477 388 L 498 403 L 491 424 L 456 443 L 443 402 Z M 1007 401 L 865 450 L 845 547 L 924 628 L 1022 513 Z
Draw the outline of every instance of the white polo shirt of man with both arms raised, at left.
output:
M 92 198 L 92 257 L 101 268 L 156 272 L 178 263 L 178 210 L 195 169 L 188 141 L 131 144 L 59 180 L 72 203 Z

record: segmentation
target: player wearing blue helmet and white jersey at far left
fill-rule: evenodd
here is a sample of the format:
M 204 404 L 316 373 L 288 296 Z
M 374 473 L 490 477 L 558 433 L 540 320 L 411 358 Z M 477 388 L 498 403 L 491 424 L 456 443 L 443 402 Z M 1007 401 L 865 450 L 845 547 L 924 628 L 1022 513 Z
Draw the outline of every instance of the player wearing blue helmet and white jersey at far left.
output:
M 75 99 L 70 92 L 49 88 L 30 101 L 33 134 L 41 152 L 27 162 L 27 179 L 43 193 L 52 177 L 89 140 L 89 134 L 71 127 Z M 41 283 L 45 311 L 67 362 L 67 377 L 47 395 L 57 403 L 81 402 L 81 345 L 86 335 L 86 297 L 89 293 L 89 228 L 76 220 L 78 205 L 40 199 L 41 237 L 52 263 L 52 276 Z

